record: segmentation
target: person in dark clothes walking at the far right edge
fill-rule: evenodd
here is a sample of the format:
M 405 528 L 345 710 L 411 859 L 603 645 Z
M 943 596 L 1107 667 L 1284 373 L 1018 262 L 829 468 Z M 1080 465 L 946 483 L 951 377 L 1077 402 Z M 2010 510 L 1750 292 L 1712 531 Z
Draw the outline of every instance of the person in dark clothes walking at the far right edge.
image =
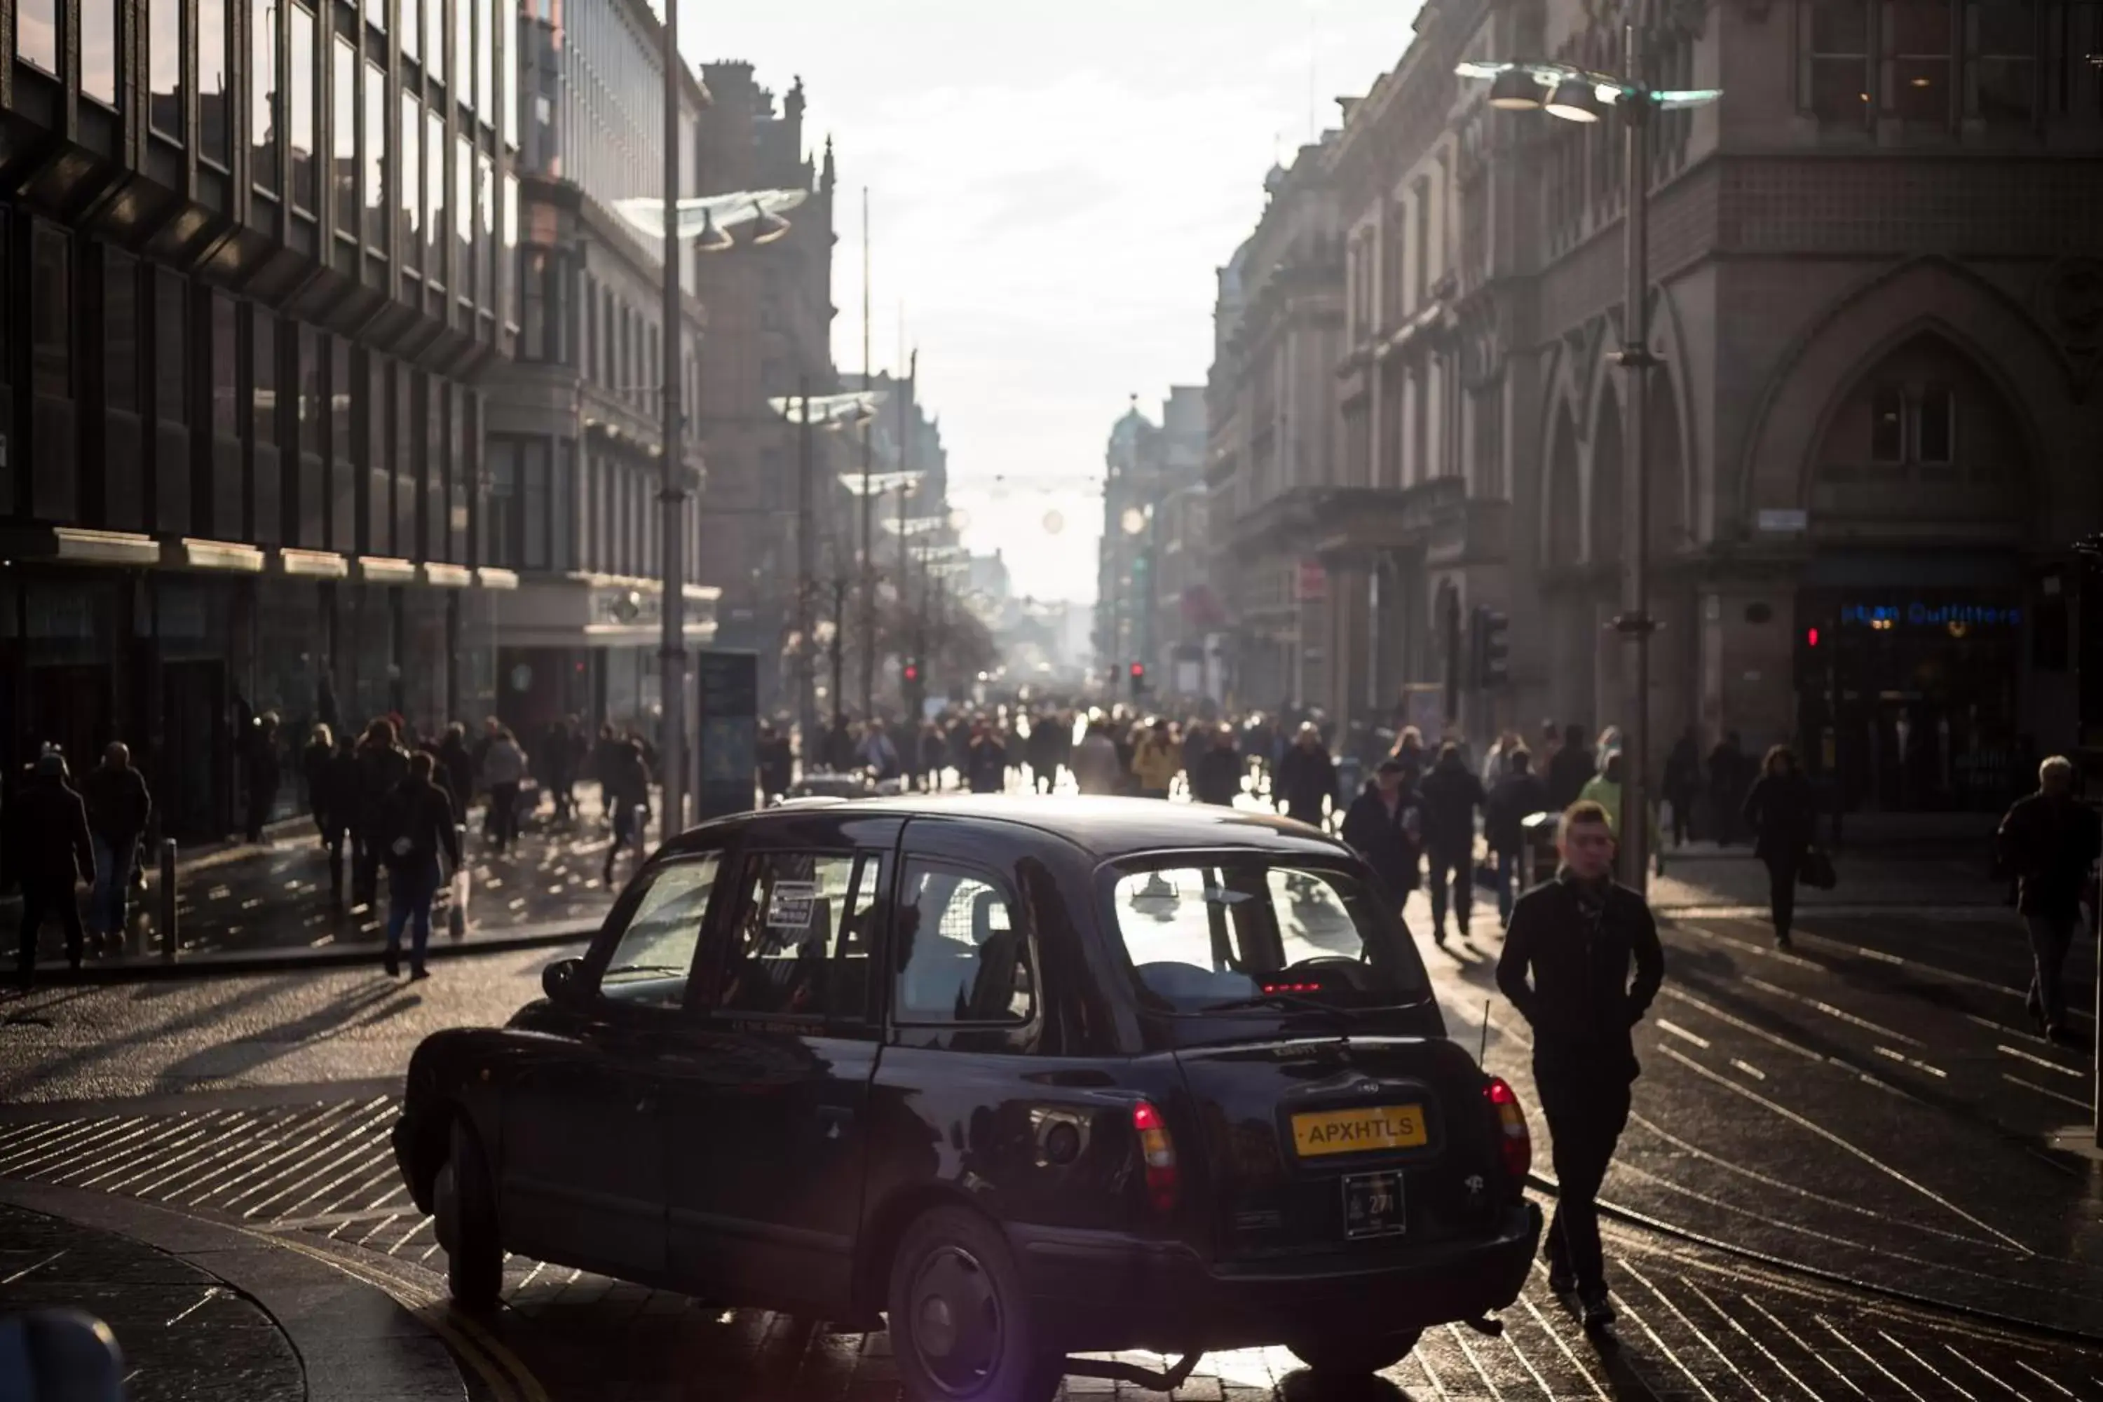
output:
M 2103 843 L 2103 820 L 2074 797 L 2074 761 L 2053 755 L 2038 765 L 2038 792 L 2015 801 L 1994 841 L 2017 879 L 2015 910 L 2029 927 L 2034 969 L 2023 1007 L 2046 1036 L 2061 1040 L 2069 1032 L 2061 967 Z

